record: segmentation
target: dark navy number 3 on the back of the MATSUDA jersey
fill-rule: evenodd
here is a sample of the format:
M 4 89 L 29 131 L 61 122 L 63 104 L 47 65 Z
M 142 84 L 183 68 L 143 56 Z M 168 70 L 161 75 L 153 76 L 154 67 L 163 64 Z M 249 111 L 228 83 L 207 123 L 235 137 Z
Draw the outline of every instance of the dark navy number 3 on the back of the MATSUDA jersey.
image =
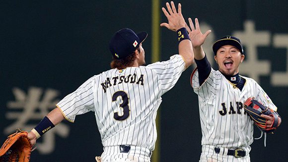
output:
M 130 116 L 130 109 L 129 109 L 129 98 L 126 92 L 124 91 L 117 91 L 114 93 L 114 95 L 112 96 L 112 102 L 115 102 L 117 100 L 118 97 L 122 98 L 122 103 L 120 104 L 120 108 L 123 109 L 123 115 L 119 116 L 119 112 L 114 112 L 114 119 L 116 120 L 125 120 Z

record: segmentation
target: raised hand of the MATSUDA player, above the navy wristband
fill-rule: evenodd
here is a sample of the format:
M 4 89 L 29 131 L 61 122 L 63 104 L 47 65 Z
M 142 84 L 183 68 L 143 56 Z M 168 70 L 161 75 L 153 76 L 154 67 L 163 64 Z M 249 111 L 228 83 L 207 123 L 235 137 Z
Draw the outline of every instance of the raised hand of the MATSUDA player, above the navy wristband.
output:
M 186 23 L 181 13 L 181 4 L 178 3 L 178 12 L 173 1 L 171 1 L 171 7 L 170 4 L 166 2 L 166 7 L 168 12 L 164 7 L 162 7 L 162 11 L 167 17 L 168 23 L 161 23 L 160 26 L 164 26 L 172 31 L 177 31 L 178 29 L 185 27 Z

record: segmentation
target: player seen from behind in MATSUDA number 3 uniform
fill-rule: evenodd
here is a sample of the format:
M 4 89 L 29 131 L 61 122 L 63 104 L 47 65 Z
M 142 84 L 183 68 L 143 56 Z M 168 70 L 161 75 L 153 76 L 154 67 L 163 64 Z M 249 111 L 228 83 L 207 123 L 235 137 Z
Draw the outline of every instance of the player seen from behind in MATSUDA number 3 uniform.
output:
M 147 66 L 142 46 L 146 32 L 135 34 L 128 28 L 117 31 L 109 48 L 112 69 L 95 75 L 61 100 L 28 133 L 31 144 L 64 118 L 73 122 L 77 115 L 94 111 L 103 144 L 102 162 L 150 162 L 157 138 L 155 118 L 161 96 L 177 82 L 181 73 L 194 62 L 185 20 L 166 3 L 162 8 L 168 23 L 160 26 L 177 32 L 179 54 Z

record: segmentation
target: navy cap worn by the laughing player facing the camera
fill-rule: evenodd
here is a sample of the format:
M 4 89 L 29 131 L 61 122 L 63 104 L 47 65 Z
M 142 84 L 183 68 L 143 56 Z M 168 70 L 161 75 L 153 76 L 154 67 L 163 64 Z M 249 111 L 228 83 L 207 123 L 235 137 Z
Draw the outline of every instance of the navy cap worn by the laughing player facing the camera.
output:
M 217 40 L 213 45 L 214 54 L 216 55 L 219 48 L 225 45 L 234 46 L 240 51 L 241 54 L 244 54 L 240 39 L 233 36 L 225 36 Z

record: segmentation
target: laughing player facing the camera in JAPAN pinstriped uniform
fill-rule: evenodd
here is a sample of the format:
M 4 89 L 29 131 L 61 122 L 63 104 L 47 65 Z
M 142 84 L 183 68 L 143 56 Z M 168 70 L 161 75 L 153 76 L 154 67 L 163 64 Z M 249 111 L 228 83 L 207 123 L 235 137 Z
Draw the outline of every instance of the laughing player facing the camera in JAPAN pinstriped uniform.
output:
M 264 90 L 253 79 L 239 75 L 244 60 L 243 47 L 238 38 L 225 36 L 213 45 L 218 70 L 214 70 L 202 45 L 211 33 L 201 33 L 198 19 L 195 27 L 189 18 L 187 31 L 193 45 L 197 68 L 191 75 L 191 86 L 198 95 L 202 129 L 200 162 L 250 162 L 253 142 L 253 122 L 243 104 L 254 97 L 263 105 L 277 110 Z M 273 118 L 261 115 L 271 127 Z M 278 126 L 281 123 L 279 117 Z

